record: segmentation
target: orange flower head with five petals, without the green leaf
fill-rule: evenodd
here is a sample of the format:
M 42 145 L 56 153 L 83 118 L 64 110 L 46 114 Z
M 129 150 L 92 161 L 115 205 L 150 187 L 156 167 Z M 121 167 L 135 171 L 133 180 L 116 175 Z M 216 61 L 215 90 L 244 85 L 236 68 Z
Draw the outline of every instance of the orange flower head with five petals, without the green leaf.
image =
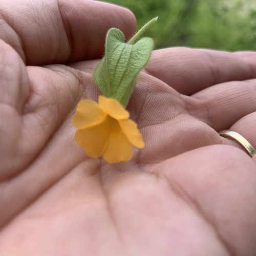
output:
M 76 142 L 90 157 L 103 156 L 108 163 L 129 161 L 133 146 L 144 147 L 137 124 L 115 99 L 99 96 L 99 103 L 84 99 L 77 104 L 72 118 L 78 129 Z

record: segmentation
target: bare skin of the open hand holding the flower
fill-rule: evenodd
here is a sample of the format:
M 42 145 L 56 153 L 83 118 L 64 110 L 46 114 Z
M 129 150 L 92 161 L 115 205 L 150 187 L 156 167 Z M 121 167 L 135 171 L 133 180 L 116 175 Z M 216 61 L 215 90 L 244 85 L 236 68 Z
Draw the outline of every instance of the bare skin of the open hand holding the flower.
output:
M 0 255 L 256 254 L 256 53 L 154 51 L 127 109 L 132 161 L 86 156 L 71 124 L 111 27 L 133 14 L 95 1 L 3 0 Z

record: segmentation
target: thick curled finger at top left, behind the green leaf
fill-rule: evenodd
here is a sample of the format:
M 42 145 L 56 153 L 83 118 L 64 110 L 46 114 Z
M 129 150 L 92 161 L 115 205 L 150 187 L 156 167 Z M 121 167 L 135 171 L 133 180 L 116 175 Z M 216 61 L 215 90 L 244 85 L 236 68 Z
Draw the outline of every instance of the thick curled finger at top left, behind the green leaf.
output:
M 126 37 L 136 29 L 129 10 L 91 0 L 4 0 L 0 15 L 0 38 L 28 65 L 99 58 L 108 29 L 117 27 Z

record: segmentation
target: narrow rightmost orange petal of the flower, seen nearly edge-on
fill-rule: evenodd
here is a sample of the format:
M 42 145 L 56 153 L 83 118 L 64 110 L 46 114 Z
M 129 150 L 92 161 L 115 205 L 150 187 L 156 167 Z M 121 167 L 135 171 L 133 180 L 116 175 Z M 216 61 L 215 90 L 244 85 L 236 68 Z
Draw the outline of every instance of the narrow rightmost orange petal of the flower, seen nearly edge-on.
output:
M 138 130 L 137 123 L 131 119 L 118 120 L 118 122 L 127 139 L 134 146 L 138 148 L 143 148 L 145 144 L 142 139 L 142 135 Z

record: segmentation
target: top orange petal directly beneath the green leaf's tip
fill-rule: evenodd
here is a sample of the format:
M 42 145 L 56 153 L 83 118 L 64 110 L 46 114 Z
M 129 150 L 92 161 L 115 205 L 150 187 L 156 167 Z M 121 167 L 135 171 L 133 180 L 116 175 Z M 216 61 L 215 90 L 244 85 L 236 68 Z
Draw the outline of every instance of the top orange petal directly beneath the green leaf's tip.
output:
M 128 119 L 130 116 L 129 112 L 116 99 L 99 96 L 99 105 L 105 113 L 117 120 Z

